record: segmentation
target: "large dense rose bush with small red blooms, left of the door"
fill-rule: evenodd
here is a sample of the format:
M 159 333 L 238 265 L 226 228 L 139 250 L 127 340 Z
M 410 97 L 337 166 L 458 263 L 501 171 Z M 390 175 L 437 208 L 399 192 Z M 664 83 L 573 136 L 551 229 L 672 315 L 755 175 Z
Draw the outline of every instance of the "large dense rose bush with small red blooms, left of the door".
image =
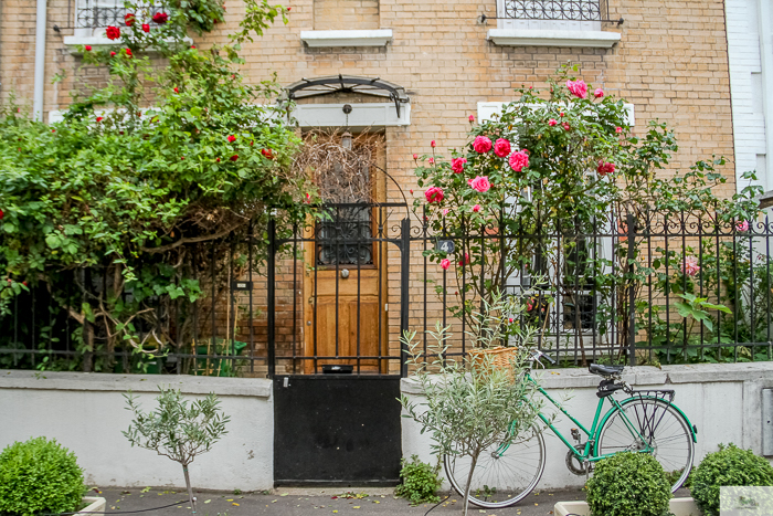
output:
M 221 4 L 178 4 L 148 32 L 135 23 L 149 18 L 146 4 L 127 2 L 127 27 L 108 28 L 116 44 L 83 57 L 107 69 L 110 84 L 76 96 L 64 122 L 33 122 L 13 104 L 0 110 L 0 315 L 28 289 L 40 306 L 50 299 L 56 317 L 74 323 L 66 337 L 85 370 L 112 366 L 95 351 L 193 346 L 203 329 L 194 326 L 227 292 L 229 271 L 244 266 L 247 243 L 254 263 L 265 256 L 269 210 L 282 231 L 313 207 L 313 187 L 290 168 L 294 128 L 256 103 L 276 85 L 245 84 L 232 70 L 243 63 L 240 44 L 284 17 L 282 7 L 246 0 L 233 42 L 202 52 L 189 46 L 189 30 L 222 21 Z M 149 48 L 166 67 L 151 67 Z M 190 304 L 204 284 L 197 319 Z M 65 336 L 44 337 L 31 339 L 49 346 Z M 9 357 L 0 366 L 30 366 Z M 60 367 L 41 358 L 38 367 Z

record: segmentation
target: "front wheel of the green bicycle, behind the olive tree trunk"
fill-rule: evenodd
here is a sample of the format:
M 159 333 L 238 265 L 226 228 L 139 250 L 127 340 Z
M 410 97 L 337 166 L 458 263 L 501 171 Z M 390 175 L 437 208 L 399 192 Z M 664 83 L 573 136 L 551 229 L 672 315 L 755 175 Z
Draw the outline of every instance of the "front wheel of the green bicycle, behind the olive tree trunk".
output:
M 544 471 L 544 439 L 536 427 L 523 438 L 484 450 L 473 472 L 469 502 L 484 508 L 509 507 L 537 486 Z M 472 459 L 443 457 L 448 482 L 464 496 Z

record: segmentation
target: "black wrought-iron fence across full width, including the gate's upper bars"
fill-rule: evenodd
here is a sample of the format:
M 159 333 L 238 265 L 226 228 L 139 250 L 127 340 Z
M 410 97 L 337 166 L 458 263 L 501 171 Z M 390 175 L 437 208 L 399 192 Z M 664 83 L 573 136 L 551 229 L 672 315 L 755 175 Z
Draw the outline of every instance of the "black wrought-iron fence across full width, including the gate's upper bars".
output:
M 533 328 L 563 366 L 773 358 L 767 219 L 646 213 L 509 234 L 433 231 L 400 203 L 327 210 L 307 228 L 199 244 L 195 301 L 169 288 L 110 297 L 117 280 L 96 267 L 62 273 L 61 288 L 29 285 L 0 317 L 0 368 L 404 375 L 404 330 L 428 351 L 441 322 L 446 356 L 464 356 L 495 292 L 517 299 L 508 328 Z

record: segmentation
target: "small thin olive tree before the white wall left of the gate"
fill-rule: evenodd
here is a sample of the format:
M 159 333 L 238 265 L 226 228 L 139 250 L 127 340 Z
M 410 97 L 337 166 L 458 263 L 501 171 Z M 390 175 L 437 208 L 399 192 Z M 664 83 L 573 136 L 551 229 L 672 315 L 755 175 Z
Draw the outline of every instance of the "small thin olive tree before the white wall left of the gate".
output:
M 220 400 L 214 393 L 188 403 L 179 390 L 163 389 L 156 400 L 158 408 L 142 412 L 131 392 L 124 394 L 127 410 L 135 414 L 129 429 L 123 434 L 133 446 L 152 450 L 182 466 L 191 507 L 195 513 L 195 498 L 191 488 L 188 465 L 197 455 L 209 452 L 212 444 L 227 433 L 225 424 L 231 420 L 220 410 Z

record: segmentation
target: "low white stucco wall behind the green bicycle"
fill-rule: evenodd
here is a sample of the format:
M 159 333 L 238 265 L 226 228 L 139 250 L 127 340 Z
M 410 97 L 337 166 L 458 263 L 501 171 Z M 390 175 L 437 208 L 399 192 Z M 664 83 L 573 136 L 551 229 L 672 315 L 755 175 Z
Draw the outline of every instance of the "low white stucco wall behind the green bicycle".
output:
M 566 409 L 590 429 L 601 378 L 585 369 L 553 369 L 541 372 L 541 378 L 553 399 L 570 396 Z M 773 362 L 664 366 L 663 369 L 635 367 L 626 368 L 623 379 L 636 389 L 676 391 L 674 402 L 698 428 L 695 465 L 707 453 L 717 451 L 719 443 L 734 443 L 762 453 L 762 389 L 773 388 Z M 421 387 L 414 380 L 404 379 L 401 389 L 415 402 L 422 402 Z M 607 403 L 604 412 L 608 407 Z M 571 441 L 571 421 L 561 417 L 555 425 Z M 417 454 L 423 461 L 435 464 L 436 457 L 430 447 L 432 438 L 428 433 L 421 434 L 420 430 L 413 420 L 403 419 L 403 456 Z M 585 477 L 571 474 L 564 464 L 566 446 L 550 430 L 543 435 L 547 463 L 539 486 L 582 486 Z

